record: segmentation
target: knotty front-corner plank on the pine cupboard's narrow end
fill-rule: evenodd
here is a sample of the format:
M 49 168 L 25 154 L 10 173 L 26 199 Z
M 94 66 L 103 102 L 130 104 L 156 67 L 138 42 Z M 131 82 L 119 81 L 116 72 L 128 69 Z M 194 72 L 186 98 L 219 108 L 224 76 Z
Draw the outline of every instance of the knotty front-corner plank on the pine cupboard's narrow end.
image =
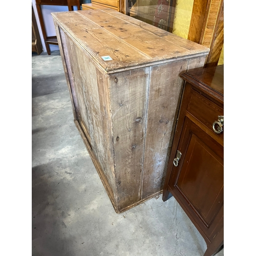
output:
M 141 199 L 149 69 L 110 75 L 118 210 Z

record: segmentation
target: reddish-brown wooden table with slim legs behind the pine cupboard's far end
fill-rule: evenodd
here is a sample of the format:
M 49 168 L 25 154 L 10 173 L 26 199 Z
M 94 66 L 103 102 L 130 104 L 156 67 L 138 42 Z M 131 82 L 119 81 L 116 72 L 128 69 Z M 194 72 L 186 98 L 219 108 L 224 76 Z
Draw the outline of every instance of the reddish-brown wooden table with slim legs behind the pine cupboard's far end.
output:
M 47 36 L 46 27 L 44 23 L 44 17 L 42 16 L 41 5 L 57 5 L 57 6 L 68 6 L 69 11 L 74 10 L 74 6 L 80 10 L 80 0 L 36 0 L 36 8 L 41 24 L 42 35 L 44 36 L 46 50 L 48 55 L 51 54 L 49 45 L 58 45 L 56 36 Z

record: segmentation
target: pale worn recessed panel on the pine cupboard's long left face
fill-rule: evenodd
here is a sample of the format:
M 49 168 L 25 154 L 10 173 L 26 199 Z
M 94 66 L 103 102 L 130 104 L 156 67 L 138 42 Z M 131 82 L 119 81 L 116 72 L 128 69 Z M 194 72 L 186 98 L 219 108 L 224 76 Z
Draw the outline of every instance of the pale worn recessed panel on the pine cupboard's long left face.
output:
M 98 91 L 98 81 L 100 72 L 84 55 L 76 44 L 67 36 L 67 52 L 70 56 L 71 73 L 74 81 L 74 91 L 77 100 L 77 119 L 79 124 L 90 139 L 92 151 L 99 162 L 102 172 L 108 182 L 112 193 L 114 189 L 113 163 L 111 163 L 111 153 L 108 142 L 106 142 L 106 126 L 109 120 L 102 120 L 100 94 Z M 101 84 L 101 86 L 106 86 Z M 108 116 L 109 118 L 109 116 Z

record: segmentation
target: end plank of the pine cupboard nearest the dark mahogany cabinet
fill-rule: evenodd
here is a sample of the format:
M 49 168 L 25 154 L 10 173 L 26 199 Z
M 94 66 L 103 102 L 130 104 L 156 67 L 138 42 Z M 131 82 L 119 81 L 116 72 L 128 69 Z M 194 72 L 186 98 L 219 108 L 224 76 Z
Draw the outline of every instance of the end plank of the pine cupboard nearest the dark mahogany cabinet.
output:
M 179 74 L 203 67 L 205 59 L 200 56 L 152 67 L 141 199 L 163 189 L 184 84 Z

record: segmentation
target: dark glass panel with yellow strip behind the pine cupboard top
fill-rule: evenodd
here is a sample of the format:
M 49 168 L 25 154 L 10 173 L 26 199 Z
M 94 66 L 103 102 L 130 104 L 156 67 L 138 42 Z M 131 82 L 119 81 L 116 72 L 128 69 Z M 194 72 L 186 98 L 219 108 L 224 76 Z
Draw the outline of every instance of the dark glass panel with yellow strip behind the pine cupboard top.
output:
M 127 15 L 187 38 L 194 0 L 127 0 Z

